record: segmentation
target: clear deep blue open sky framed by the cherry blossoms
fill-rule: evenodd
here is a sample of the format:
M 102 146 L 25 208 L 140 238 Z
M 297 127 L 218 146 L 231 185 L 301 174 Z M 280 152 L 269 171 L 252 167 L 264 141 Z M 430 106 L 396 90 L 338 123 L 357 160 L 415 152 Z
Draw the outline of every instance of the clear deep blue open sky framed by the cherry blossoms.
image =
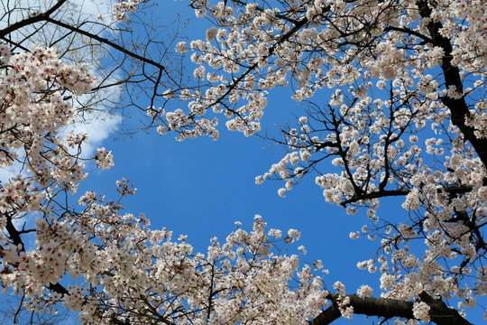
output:
M 164 1 L 163 5 L 153 7 L 152 14 L 164 24 L 181 13 L 191 19 L 183 33 L 189 39 L 204 38 L 207 22 L 197 20 L 187 4 L 187 1 Z M 281 95 L 270 97 L 262 121 L 263 129 L 270 134 L 277 134 L 278 125 L 292 122 L 294 116 L 304 111 L 304 107 Z M 127 112 L 130 114 L 130 109 Z M 138 120 L 137 114 L 125 121 L 125 126 L 136 127 L 133 121 Z M 109 171 L 90 168 L 80 192 L 93 189 L 111 195 L 115 181 L 127 178 L 138 188 L 137 194 L 125 201 L 128 211 L 144 212 L 152 220 L 153 228 L 169 228 L 176 237 L 188 235 L 188 242 L 202 252 L 211 237 L 225 240 L 235 228 L 234 221 L 242 221 L 245 228 L 250 228 L 253 216 L 260 214 L 270 228 L 301 231 L 299 245 L 307 247 L 308 261 L 321 259 L 330 270 L 324 278 L 328 287 L 340 280 L 347 292 L 354 292 L 367 283 L 379 293 L 380 274 L 368 274 L 355 266 L 358 261 L 372 258 L 379 243 L 371 243 L 365 237 L 358 240 L 348 237 L 351 231 L 368 223 L 365 211 L 348 216 L 345 209 L 326 203 L 314 176 L 302 181 L 284 199 L 277 195 L 283 186 L 280 181 L 255 185 L 254 177 L 280 160 L 282 148 L 257 137 L 228 132 L 224 120 L 221 124 L 220 140 L 216 142 L 201 137 L 180 143 L 174 135 L 157 135 L 155 130 L 133 136 L 112 135 L 103 145 L 114 153 L 115 167 Z M 382 206 L 380 213 L 407 216 L 397 201 L 390 200 Z M 358 319 L 354 316 L 355 321 Z M 335 323 L 351 324 L 354 320 Z M 475 320 L 472 314 L 469 320 Z

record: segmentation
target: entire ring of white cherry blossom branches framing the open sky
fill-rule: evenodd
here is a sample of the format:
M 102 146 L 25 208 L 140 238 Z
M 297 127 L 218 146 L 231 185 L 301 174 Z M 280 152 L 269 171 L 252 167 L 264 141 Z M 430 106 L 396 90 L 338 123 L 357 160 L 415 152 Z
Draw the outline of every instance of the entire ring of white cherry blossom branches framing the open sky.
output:
M 60 15 L 66 4 L 21 5 L 0 31 L 1 162 L 21 166 L 0 193 L 0 278 L 30 310 L 62 305 L 96 324 L 317 325 L 354 314 L 470 324 L 465 311 L 478 312 L 487 291 L 482 1 L 192 0 L 197 16 L 215 23 L 206 40 L 174 43 L 196 64 L 196 85 L 110 38 L 116 33 L 90 29 L 116 29 L 145 1 L 118 1 L 98 20 Z M 40 44 L 46 26 L 56 38 Z M 42 37 L 26 46 L 31 34 Z M 77 38 L 89 44 L 88 61 L 77 60 Z M 108 73 L 79 64 L 102 62 L 97 51 L 106 49 L 120 55 Z M 111 78 L 133 67 L 142 72 Z M 228 129 L 255 135 L 272 89 L 289 87 L 308 114 L 273 140 L 289 153 L 255 181 L 279 179 L 285 196 L 314 174 L 327 202 L 350 214 L 366 209 L 370 224 L 350 237 L 381 238 L 378 254 L 357 264 L 380 273 L 381 293 L 366 283 L 357 294 L 326 286 L 321 261 L 300 263 L 304 247 L 281 254 L 299 231 L 267 228 L 260 216 L 201 254 L 126 212 L 123 200 L 135 193 L 128 181 L 112 199 L 87 191 L 75 201 L 87 135 L 63 129 L 93 106 L 88 95 L 120 83 L 152 85 L 150 106 L 139 107 L 148 127 L 179 140 L 217 139 L 222 114 Z M 171 110 L 177 100 L 188 109 Z M 106 148 L 91 160 L 114 164 Z M 326 162 L 335 172 L 319 172 Z M 403 197 L 399 221 L 379 209 L 391 196 Z

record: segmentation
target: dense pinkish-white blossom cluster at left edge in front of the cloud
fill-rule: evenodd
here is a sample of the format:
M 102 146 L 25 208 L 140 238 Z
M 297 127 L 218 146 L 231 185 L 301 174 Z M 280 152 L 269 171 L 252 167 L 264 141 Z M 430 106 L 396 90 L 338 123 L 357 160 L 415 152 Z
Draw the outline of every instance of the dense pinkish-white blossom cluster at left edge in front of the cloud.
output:
M 31 51 L 11 54 L 3 45 L 1 51 L 0 164 L 6 167 L 22 163 L 30 179 L 19 176 L 4 185 L 8 193 L 11 187 L 19 187 L 14 183 L 26 184 L 21 186 L 22 195 L 7 194 L 1 199 L 4 209 L 15 215 L 39 208 L 44 194 L 36 194 L 38 186 L 63 183 L 63 187 L 76 190 L 78 181 L 86 176 L 84 163 L 78 159 L 86 135 L 59 133 L 76 114 L 66 95 L 87 93 L 94 77 L 85 66 L 63 63 L 49 48 L 34 45 Z

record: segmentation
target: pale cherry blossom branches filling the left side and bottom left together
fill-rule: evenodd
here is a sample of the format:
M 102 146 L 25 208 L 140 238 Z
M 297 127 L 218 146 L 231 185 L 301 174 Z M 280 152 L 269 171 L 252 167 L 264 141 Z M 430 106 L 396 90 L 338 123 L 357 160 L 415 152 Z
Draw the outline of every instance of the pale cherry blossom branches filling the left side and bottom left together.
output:
M 122 200 L 135 192 L 127 181 L 117 182 L 113 200 L 95 191 L 75 200 L 86 163 L 114 165 L 104 147 L 87 156 L 88 135 L 72 127 L 78 116 L 100 109 L 92 98 L 119 84 L 149 84 L 154 100 L 163 98 L 162 82 L 176 83 L 159 60 L 115 38 L 116 26 L 140 3 L 120 2 L 113 16 L 96 20 L 63 11 L 65 5 L 8 3 L 0 31 L 1 162 L 18 172 L 1 184 L 0 279 L 21 297 L 14 322 L 23 306 L 32 315 L 62 306 L 96 324 L 288 324 L 316 315 L 327 294 L 313 274 L 322 265 L 279 254 L 299 238 L 295 229 L 267 231 L 256 216 L 252 231 L 238 226 L 203 255 L 186 237 L 173 239 L 169 230 L 149 228 L 143 215 L 124 212 Z M 111 66 L 99 53 L 106 49 L 124 60 Z M 99 64 L 107 73 L 93 69 Z M 130 72 L 124 79 L 113 77 L 124 71 Z

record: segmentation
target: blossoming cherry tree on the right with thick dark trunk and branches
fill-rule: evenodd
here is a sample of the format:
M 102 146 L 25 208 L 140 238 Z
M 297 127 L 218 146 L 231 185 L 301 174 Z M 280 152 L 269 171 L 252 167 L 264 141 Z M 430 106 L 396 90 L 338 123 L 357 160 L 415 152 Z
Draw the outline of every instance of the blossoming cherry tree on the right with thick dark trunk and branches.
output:
M 287 149 L 258 176 L 284 181 L 284 197 L 316 177 L 327 202 L 371 225 L 351 237 L 380 237 L 360 262 L 380 271 L 381 298 L 364 286 L 315 320 L 363 313 L 386 320 L 468 323 L 460 316 L 485 295 L 487 140 L 485 4 L 482 1 L 193 0 L 215 25 L 206 39 L 179 42 L 197 65 L 202 89 L 168 89 L 188 110 L 160 111 L 158 131 L 179 139 L 217 136 L 226 127 L 261 130 L 268 95 L 287 87 L 308 113 L 272 141 Z M 331 93 L 330 93 L 331 91 Z M 213 117 L 216 118 L 216 117 Z M 211 121 L 211 123 L 210 123 Z M 335 172 L 322 173 L 328 162 Z M 402 197 L 400 221 L 378 212 Z M 447 307 L 445 300 L 456 301 Z M 474 311 L 480 312 L 480 311 Z M 400 322 L 400 320 L 396 320 Z

